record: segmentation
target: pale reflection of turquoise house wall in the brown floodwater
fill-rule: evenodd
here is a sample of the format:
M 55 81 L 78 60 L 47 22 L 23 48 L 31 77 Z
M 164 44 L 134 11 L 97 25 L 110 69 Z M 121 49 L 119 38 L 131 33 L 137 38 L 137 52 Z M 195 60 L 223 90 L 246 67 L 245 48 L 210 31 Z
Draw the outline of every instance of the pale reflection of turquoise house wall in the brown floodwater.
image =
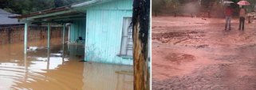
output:
M 84 90 L 133 90 L 131 66 L 85 63 L 84 67 Z

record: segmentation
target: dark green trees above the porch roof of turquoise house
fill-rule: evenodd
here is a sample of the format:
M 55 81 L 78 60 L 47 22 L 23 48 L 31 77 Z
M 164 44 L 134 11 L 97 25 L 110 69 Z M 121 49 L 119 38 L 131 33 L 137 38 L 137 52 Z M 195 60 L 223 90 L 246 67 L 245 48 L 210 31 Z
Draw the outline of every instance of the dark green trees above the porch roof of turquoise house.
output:
M 26 14 L 85 1 L 88 0 L 1 0 L 0 9 L 6 9 L 10 13 Z

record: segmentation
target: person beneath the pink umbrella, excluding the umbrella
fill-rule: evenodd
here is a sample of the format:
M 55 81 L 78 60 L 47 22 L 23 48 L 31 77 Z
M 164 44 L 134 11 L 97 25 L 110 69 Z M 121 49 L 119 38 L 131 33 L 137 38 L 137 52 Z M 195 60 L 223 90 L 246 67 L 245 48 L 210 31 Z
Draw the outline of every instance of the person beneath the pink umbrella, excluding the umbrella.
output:
M 245 25 L 245 18 L 246 16 L 246 9 L 244 9 L 244 6 L 241 7 L 240 12 L 239 12 L 239 30 L 244 30 L 244 25 Z

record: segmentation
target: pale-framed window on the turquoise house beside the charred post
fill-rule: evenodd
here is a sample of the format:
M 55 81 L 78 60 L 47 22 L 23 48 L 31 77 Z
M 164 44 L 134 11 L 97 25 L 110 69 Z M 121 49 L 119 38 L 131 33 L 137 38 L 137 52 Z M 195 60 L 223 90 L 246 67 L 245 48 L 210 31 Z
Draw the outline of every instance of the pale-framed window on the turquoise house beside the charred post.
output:
M 132 17 L 124 17 L 120 55 L 132 57 Z

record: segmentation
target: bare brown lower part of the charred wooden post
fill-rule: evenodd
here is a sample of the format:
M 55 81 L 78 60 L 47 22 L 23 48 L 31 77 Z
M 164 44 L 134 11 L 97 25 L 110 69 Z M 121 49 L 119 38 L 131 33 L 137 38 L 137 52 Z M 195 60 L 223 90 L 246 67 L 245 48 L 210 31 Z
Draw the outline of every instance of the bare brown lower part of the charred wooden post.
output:
M 148 90 L 148 44 L 140 40 L 140 23 L 133 28 L 134 89 Z

